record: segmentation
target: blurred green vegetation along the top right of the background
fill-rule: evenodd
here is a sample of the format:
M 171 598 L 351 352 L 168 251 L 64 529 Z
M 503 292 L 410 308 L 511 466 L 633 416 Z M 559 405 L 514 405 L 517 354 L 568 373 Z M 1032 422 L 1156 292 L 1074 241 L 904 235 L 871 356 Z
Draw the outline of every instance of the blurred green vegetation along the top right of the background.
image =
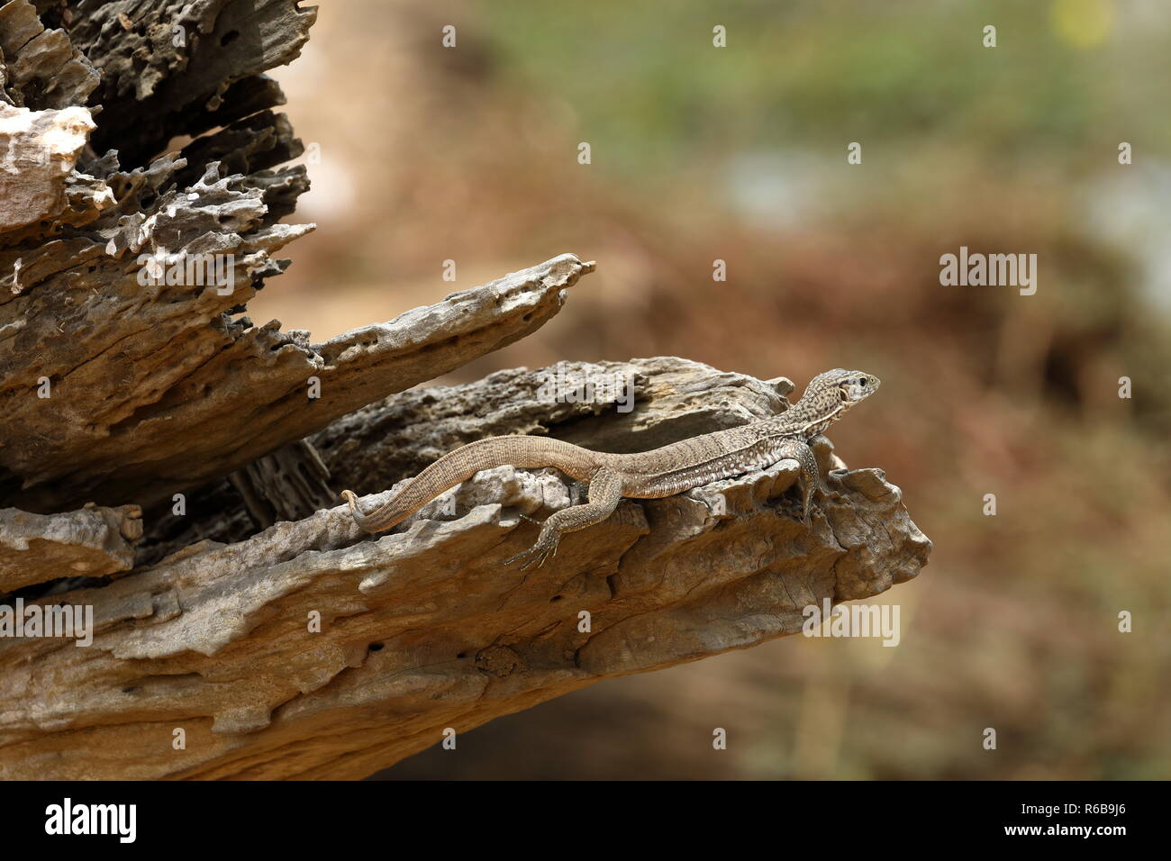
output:
M 1166 157 L 1165 13 L 1115 0 L 481 7 L 498 68 L 571 104 L 602 169 L 634 182 L 730 145 L 844 158 L 845 142 L 871 139 L 895 159 L 943 145 L 997 171 L 1067 176 L 1111 159 L 1119 139 Z

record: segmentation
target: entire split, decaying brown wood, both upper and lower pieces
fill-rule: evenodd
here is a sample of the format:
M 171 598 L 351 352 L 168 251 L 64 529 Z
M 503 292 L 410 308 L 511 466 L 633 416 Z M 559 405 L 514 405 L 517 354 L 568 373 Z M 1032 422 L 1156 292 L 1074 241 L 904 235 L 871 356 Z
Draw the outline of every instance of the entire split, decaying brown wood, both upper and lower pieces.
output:
M 501 560 L 533 540 L 522 514 L 577 493 L 553 471 L 491 470 L 359 532 L 337 491 L 374 505 L 461 443 L 652 449 L 793 387 L 659 357 L 561 368 L 629 378 L 629 412 L 557 397 L 552 369 L 411 389 L 548 321 L 594 268 L 573 254 L 326 343 L 253 326 L 276 252 L 313 227 L 280 221 L 308 179 L 262 74 L 313 18 L 0 2 L 0 777 L 364 777 L 918 573 L 930 542 L 898 488 L 828 442 L 812 533 L 789 462 L 628 500 L 529 572 Z M 184 255 L 226 260 L 231 286 L 193 283 Z M 16 603 L 91 609 L 91 643 L 11 636 Z

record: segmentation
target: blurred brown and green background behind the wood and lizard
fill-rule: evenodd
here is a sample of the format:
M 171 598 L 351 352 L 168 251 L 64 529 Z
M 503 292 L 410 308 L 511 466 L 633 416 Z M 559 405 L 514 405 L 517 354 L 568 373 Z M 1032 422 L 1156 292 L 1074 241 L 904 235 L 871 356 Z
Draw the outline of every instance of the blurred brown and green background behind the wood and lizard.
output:
M 604 682 L 384 775 L 1171 775 L 1169 36 L 1143 0 L 322 4 L 276 70 L 319 227 L 258 323 L 320 341 L 571 251 L 598 267 L 561 314 L 440 382 L 862 368 L 882 392 L 830 436 L 934 541 L 883 596 L 897 648 Z M 960 246 L 1035 253 L 1036 294 L 941 286 Z

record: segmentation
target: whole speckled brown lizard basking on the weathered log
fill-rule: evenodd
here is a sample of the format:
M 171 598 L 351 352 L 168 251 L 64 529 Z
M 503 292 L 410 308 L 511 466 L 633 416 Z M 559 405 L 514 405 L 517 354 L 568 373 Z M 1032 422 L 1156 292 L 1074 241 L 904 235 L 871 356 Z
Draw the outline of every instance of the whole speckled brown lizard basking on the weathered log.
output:
M 342 491 L 341 496 L 359 527 L 382 532 L 444 491 L 494 466 L 552 466 L 587 483 L 584 504 L 549 515 L 536 544 L 504 562 L 520 561 L 525 570 L 534 563 L 545 565 L 557 552 L 564 533 L 605 520 L 623 497 L 660 499 L 792 459 L 800 466 L 801 519 L 812 528 L 810 505 L 814 490 L 821 487 L 821 474 L 809 442 L 877 391 L 879 382 L 860 370 L 835 368 L 809 381 L 800 399 L 780 415 L 629 455 L 593 451 L 549 437 L 487 437 L 444 455 L 375 511 L 363 512 L 352 491 Z

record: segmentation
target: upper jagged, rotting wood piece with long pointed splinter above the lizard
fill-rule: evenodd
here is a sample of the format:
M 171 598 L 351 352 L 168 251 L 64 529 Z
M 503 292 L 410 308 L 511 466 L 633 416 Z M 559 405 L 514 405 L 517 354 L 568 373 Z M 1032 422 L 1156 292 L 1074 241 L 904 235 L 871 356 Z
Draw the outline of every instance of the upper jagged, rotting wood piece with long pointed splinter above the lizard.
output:
M 239 8 L 251 4 L 204 6 L 231 12 L 235 27 Z M 23 8 L 21 0 L 8 7 Z M 292 8 L 262 6 L 272 14 Z M 293 23 L 303 21 L 295 13 Z M 71 28 L 87 45 L 91 29 L 78 21 Z M 231 57 L 220 62 L 244 74 Z M 192 93 L 211 98 L 207 75 L 200 66 L 196 81 L 186 75 L 182 86 L 158 83 L 158 93 L 171 94 L 165 103 L 172 109 L 176 91 L 183 94 L 178 104 Z M 158 93 L 138 109 L 150 110 Z M 248 104 L 255 108 L 256 97 Z M 30 511 L 85 501 L 150 505 L 221 477 L 337 416 L 522 337 L 556 313 L 562 288 L 589 271 L 562 255 L 488 289 L 311 344 L 309 333 L 281 332 L 278 321 L 255 327 L 239 316 L 263 279 L 287 265 L 273 254 L 311 228 L 276 221 L 308 187 L 303 168 L 268 170 L 300 152 L 282 118 L 253 114 L 199 138 L 180 158 L 126 172 L 112 153 L 74 165 L 93 128 L 87 109 L 4 110 L 0 130 L 8 135 L 0 144 L 20 169 L 28 199 L 14 200 L 7 218 L 22 230 L 0 233 L 0 408 L 7 425 L 0 492 Z M 103 130 L 110 112 L 103 104 Z M 174 122 L 172 132 L 198 130 L 186 116 Z M 141 137 L 142 128 L 133 129 Z M 27 170 L 46 160 L 47 145 L 56 146 L 47 165 Z M 66 193 L 74 179 L 85 189 L 80 203 Z M 35 230 L 25 227 L 33 221 Z M 187 276 L 184 261 L 196 255 L 225 258 L 232 288 L 227 278 L 170 283 L 176 266 Z M 153 260 L 167 283 L 144 286 L 144 266 Z

